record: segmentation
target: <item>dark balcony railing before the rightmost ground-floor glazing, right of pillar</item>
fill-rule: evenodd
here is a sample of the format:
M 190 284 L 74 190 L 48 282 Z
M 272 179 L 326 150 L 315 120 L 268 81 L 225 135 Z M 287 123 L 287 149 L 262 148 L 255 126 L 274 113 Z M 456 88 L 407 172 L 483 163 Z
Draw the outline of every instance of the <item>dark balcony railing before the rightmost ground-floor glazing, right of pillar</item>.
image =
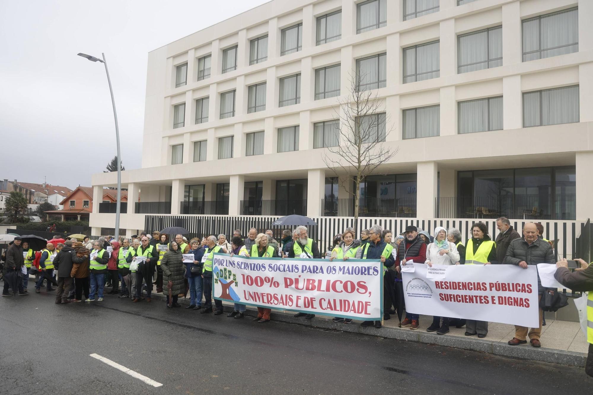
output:
M 436 198 L 436 218 L 576 218 L 575 195 L 508 195 L 483 198 Z

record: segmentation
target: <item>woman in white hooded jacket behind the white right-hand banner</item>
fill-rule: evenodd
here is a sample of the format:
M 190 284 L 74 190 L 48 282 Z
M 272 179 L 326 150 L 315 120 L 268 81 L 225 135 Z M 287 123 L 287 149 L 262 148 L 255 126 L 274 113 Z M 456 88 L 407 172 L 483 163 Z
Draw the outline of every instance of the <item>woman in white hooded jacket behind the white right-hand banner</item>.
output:
M 434 233 L 435 241 L 426 247 L 426 265 L 459 265 L 459 253 L 454 243 L 447 241 L 447 231 L 443 227 L 436 227 Z M 449 332 L 449 322 L 451 318 L 433 316 L 432 324 L 426 329 L 426 332 L 435 332 L 438 335 L 444 335 Z

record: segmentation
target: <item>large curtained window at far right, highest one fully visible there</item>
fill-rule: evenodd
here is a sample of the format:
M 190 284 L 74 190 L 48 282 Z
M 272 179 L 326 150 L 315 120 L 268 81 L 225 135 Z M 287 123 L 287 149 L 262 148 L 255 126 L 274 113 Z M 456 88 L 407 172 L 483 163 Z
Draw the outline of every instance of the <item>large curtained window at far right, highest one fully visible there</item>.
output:
M 579 50 L 578 7 L 522 21 L 523 61 Z

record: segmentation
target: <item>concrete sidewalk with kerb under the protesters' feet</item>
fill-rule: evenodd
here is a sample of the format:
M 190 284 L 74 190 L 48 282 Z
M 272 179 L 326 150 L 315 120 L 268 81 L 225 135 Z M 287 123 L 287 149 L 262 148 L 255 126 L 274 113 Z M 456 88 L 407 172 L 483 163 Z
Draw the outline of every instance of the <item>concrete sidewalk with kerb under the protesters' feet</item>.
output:
M 105 287 L 105 289 L 107 292 L 109 288 Z M 106 297 L 109 298 L 110 296 L 106 295 Z M 152 291 L 152 298 L 165 300 L 163 294 L 157 294 L 155 291 Z M 179 303 L 189 305 L 189 293 L 186 299 L 180 298 Z M 231 303 L 223 302 L 223 305 L 225 306 L 225 312 L 232 311 Z M 541 328 L 540 340 L 542 346 L 541 348 L 534 348 L 529 342 L 519 346 L 508 345 L 507 342 L 515 335 L 515 326 L 510 324 L 491 322 L 488 326 L 488 335 L 483 339 L 479 339 L 477 336 L 465 336 L 465 327 L 461 329 L 452 327 L 446 335 L 426 332 L 426 328 L 432 323 L 432 316 L 420 316 L 419 328 L 411 330 L 409 327 L 398 328 L 398 318 L 395 314 L 391 316 L 390 320 L 384 321 L 380 329 L 361 327 L 361 321 L 353 321 L 351 324 L 334 323 L 331 321 L 332 317 L 326 316 L 315 316 L 312 320 L 305 320 L 304 317 L 295 318 L 294 314 L 294 312 L 288 310 L 272 310 L 272 320 L 578 367 L 585 366 L 589 346 L 578 322 L 551 320 L 549 318 L 546 318 L 547 325 Z M 247 305 L 246 316 L 257 316 L 257 309 Z

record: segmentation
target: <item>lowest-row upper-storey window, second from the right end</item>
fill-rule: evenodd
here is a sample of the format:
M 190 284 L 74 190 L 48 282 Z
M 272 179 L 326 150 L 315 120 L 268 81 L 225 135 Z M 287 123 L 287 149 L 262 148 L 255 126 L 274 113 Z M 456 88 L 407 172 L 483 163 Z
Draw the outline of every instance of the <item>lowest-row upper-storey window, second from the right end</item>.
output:
M 458 103 L 459 133 L 502 129 L 502 96 Z

